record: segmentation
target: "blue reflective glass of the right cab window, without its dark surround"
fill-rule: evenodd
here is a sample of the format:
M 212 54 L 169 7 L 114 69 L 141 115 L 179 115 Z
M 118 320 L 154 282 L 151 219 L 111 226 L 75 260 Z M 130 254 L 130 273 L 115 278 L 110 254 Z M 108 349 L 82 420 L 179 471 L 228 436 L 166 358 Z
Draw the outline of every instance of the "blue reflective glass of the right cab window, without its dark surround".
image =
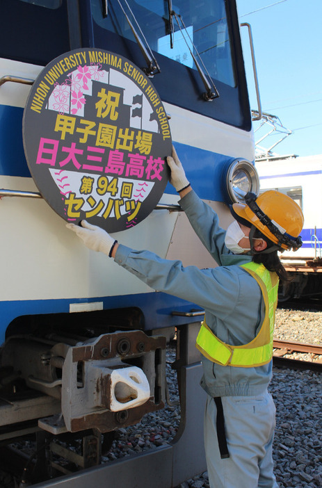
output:
M 176 63 L 196 70 L 193 53 L 211 78 L 235 86 L 230 35 L 224 0 L 193 2 L 174 0 L 169 15 L 169 2 L 161 0 L 132 0 L 130 9 L 124 10 L 133 22 L 137 19 L 147 44 L 153 51 Z M 109 3 L 106 20 L 96 10 L 95 20 L 104 28 L 117 31 L 124 37 L 133 38 L 127 20 L 118 13 L 118 1 Z M 204 15 L 202 14 L 204 12 Z M 133 14 L 133 15 L 132 15 Z M 115 22 L 116 18 L 118 22 Z M 114 19 L 114 21 L 113 21 Z

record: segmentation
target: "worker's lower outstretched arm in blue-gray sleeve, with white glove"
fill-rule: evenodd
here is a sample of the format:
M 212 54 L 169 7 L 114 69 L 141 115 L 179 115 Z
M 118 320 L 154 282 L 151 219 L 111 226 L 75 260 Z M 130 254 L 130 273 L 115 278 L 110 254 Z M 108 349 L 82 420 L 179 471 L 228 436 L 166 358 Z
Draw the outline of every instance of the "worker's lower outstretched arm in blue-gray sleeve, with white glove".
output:
M 91 250 L 114 257 L 116 263 L 154 290 L 183 298 L 222 317 L 230 314 L 239 298 L 239 279 L 232 266 L 200 270 L 181 261 L 161 259 L 150 251 L 119 245 L 106 231 L 86 221 L 82 227 L 67 224 Z M 108 277 L 106 277 L 108 279 Z

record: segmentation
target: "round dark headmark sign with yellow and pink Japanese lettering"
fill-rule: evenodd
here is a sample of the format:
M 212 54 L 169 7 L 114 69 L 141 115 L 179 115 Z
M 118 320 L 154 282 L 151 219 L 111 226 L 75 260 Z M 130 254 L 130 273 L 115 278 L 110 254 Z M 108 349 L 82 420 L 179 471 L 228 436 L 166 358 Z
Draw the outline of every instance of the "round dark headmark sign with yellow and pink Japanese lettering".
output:
M 168 182 L 172 141 L 161 99 L 138 67 L 109 51 L 70 51 L 42 70 L 23 138 L 35 184 L 67 222 L 133 227 Z

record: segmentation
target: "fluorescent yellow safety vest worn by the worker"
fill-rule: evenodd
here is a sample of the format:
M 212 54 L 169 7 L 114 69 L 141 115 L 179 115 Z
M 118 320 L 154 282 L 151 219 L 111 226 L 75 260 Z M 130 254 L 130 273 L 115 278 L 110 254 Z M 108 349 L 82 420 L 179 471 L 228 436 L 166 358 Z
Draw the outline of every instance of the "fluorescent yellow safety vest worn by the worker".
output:
M 275 310 L 277 307 L 278 277 L 266 270 L 264 264 L 254 262 L 241 265 L 261 287 L 265 303 L 265 317 L 261 328 L 248 344 L 230 345 L 220 341 L 206 321 L 202 323 L 197 337 L 196 347 L 202 355 L 222 366 L 252 368 L 269 363 L 273 357 L 273 332 Z

